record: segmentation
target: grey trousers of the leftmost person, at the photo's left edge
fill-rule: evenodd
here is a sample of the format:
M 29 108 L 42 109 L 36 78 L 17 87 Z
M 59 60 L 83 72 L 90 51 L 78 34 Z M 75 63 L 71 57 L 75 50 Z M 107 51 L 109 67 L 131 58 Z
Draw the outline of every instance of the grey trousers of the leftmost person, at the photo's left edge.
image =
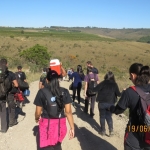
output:
M 1 131 L 6 132 L 8 125 L 7 125 L 7 110 L 6 110 L 6 102 L 0 101 L 0 125 Z

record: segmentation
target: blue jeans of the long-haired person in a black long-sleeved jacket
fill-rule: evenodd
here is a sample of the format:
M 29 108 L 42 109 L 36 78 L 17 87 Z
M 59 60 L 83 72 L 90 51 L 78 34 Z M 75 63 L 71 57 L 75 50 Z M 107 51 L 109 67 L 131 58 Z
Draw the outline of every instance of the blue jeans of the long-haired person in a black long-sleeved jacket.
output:
M 109 131 L 113 131 L 113 120 L 112 120 L 112 113 L 108 110 L 110 106 L 113 104 L 109 103 L 98 103 L 98 109 L 100 113 L 100 126 L 101 126 L 101 131 L 105 132 L 105 120 L 108 124 Z

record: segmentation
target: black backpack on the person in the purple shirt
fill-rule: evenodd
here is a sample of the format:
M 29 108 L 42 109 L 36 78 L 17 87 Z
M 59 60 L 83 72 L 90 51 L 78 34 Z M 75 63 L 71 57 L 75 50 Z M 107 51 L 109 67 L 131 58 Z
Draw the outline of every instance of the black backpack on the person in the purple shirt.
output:
M 97 81 L 95 81 L 96 74 L 94 74 L 94 78 L 90 78 L 90 75 L 88 74 L 88 79 L 89 79 L 89 81 L 88 81 L 88 87 L 87 87 L 86 94 L 87 94 L 87 96 L 94 96 L 94 95 L 96 95 L 96 92 L 92 92 L 92 90 L 97 85 Z

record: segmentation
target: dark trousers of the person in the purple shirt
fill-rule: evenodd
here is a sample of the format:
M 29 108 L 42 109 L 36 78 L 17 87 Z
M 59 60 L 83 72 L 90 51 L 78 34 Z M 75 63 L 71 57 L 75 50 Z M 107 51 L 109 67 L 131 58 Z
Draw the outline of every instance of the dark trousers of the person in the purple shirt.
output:
M 86 113 L 88 112 L 89 101 L 91 101 L 90 114 L 94 114 L 95 100 L 96 100 L 96 95 L 91 96 L 91 97 L 87 97 L 87 98 L 85 99 L 84 112 L 86 112 Z

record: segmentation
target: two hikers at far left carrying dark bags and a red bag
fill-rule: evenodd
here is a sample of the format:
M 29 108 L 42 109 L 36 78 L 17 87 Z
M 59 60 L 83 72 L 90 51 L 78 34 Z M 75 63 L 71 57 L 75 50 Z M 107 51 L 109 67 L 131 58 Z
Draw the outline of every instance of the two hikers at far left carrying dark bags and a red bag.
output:
M 18 113 L 25 115 L 22 106 L 25 106 L 26 90 L 29 91 L 29 85 L 22 66 L 18 66 L 17 71 L 13 73 L 8 70 L 7 59 L 0 59 L 0 132 L 6 133 L 9 127 L 18 124 L 17 108 Z

